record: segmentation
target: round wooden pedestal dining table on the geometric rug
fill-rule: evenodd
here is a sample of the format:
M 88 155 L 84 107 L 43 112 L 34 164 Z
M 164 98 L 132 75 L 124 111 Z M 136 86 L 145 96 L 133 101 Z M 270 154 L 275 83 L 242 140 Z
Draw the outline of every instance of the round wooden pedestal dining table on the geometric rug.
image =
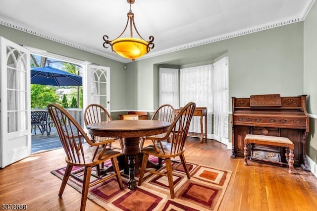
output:
M 89 124 L 87 129 L 94 136 L 124 138 L 122 153 L 128 157 L 128 188 L 133 190 L 136 188 L 135 156 L 140 153 L 140 137 L 165 133 L 170 125 L 170 122 L 158 120 L 112 120 Z

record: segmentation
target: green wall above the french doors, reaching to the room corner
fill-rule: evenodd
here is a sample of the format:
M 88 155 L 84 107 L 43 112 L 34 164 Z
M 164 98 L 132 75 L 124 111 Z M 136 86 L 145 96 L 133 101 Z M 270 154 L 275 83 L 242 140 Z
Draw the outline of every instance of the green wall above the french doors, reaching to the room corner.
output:
M 111 110 L 125 109 L 125 74 L 124 64 L 94 53 L 88 53 L 76 48 L 72 48 L 51 40 L 44 39 L 39 36 L 31 35 L 10 27 L 0 25 L 0 36 L 14 43 L 25 45 L 50 53 L 89 61 L 100 64 L 101 66 L 110 67 L 110 101 Z M 102 42 L 101 44 L 102 45 Z

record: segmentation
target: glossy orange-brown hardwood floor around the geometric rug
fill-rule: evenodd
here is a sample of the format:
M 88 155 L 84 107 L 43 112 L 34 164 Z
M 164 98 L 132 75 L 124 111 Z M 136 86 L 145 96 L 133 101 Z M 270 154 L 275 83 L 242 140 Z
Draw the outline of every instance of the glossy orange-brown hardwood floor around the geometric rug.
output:
M 315 211 L 317 208 L 317 178 L 308 171 L 230 158 L 226 146 L 213 140 L 199 143 L 188 138 L 185 157 L 200 163 L 232 171 L 219 211 Z M 0 169 L 1 204 L 26 204 L 27 210 L 79 210 L 81 194 L 66 186 L 58 197 L 61 180 L 51 171 L 65 166 L 63 149 L 35 154 Z M 87 200 L 86 211 L 104 211 Z M 136 208 L 137 210 L 137 208 Z

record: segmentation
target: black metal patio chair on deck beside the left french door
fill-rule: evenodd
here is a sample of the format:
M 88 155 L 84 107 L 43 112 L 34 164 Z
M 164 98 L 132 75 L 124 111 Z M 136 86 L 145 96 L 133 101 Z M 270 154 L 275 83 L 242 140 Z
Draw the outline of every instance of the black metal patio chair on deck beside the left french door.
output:
M 40 129 L 42 135 L 46 131 L 47 135 L 49 136 L 49 132 L 47 130 L 47 119 L 48 119 L 48 112 L 46 110 L 41 111 L 31 111 L 31 131 L 34 127 L 34 134 L 36 135 L 36 127 Z

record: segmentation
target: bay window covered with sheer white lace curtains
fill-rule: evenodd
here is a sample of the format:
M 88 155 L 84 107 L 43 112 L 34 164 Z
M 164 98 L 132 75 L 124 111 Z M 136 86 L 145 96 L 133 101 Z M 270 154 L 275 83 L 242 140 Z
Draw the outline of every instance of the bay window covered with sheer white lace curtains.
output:
M 179 108 L 192 101 L 196 103 L 197 107 L 207 107 L 208 138 L 227 143 L 228 56 L 213 64 L 183 68 L 179 72 L 178 79 L 177 69 L 159 68 L 160 105 L 171 104 L 175 108 Z M 200 118 L 194 117 L 190 131 L 200 133 L 200 130 Z

